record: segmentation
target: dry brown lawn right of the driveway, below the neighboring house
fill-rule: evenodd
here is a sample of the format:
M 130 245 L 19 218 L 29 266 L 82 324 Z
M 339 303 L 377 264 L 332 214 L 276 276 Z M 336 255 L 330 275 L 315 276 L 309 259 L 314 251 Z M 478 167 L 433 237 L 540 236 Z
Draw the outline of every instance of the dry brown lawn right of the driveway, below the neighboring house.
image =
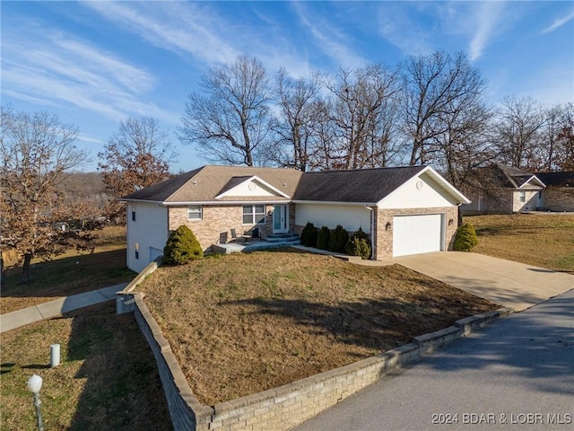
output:
M 474 251 L 495 258 L 574 273 L 574 216 L 466 216 L 478 234 Z

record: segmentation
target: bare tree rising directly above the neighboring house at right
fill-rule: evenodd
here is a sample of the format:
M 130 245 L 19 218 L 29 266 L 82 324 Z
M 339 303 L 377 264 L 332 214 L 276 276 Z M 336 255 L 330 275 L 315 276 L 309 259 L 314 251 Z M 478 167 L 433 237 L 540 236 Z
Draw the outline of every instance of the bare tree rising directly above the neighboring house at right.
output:
M 541 131 L 545 122 L 540 104 L 531 97 L 506 96 L 496 115 L 494 139 L 500 160 L 518 169 L 535 171 L 542 163 Z

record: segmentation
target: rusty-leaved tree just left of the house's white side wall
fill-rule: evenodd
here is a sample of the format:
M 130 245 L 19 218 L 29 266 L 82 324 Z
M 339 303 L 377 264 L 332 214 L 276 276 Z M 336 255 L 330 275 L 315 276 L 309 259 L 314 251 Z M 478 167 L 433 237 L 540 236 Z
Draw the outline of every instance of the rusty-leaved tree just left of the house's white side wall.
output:
M 98 157 L 98 171 L 111 196 L 108 215 L 123 221 L 125 207 L 117 198 L 170 178 L 170 163 L 177 154 L 157 119 L 142 117 L 120 121 Z

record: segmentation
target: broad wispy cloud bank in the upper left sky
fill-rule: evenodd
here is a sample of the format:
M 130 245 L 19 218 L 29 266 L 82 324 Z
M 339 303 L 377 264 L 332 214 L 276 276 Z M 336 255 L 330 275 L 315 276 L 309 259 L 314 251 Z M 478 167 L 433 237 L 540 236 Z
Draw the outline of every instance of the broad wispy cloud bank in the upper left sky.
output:
M 3 92 L 22 101 L 66 104 L 109 119 L 129 115 L 173 116 L 145 100 L 154 76 L 108 51 L 41 22 L 22 21 L 25 32 L 3 37 Z

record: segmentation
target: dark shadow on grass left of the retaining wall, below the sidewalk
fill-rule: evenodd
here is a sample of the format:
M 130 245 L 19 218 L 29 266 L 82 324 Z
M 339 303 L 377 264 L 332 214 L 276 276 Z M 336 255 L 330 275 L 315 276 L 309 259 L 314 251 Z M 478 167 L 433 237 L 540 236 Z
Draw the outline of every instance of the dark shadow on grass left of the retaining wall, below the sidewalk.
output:
M 70 430 L 170 430 L 167 401 L 152 351 L 133 314 L 115 303 L 94 305 L 73 317 L 66 361 L 82 361 L 85 379 Z

